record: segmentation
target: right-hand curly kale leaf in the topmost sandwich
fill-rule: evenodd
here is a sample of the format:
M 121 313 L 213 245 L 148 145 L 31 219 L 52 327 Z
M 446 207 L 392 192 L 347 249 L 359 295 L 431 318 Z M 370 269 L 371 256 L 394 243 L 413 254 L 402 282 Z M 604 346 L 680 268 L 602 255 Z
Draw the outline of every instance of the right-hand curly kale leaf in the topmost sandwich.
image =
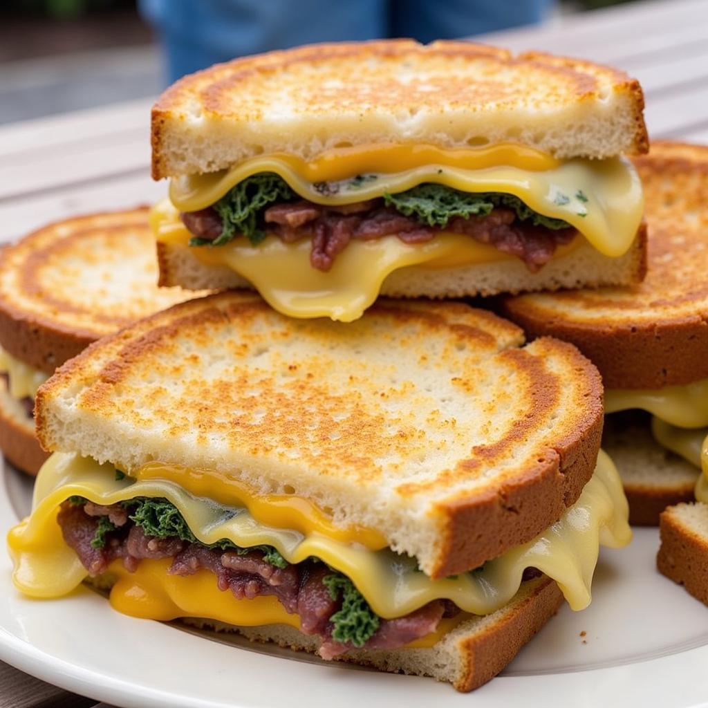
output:
M 516 212 L 520 221 L 530 220 L 535 226 L 567 229 L 568 222 L 535 212 L 512 194 L 497 192 L 462 192 L 442 184 L 424 183 L 398 194 L 384 194 L 384 202 L 401 214 L 414 216 L 428 226 L 445 227 L 453 217 L 469 219 L 486 216 L 495 207 Z

